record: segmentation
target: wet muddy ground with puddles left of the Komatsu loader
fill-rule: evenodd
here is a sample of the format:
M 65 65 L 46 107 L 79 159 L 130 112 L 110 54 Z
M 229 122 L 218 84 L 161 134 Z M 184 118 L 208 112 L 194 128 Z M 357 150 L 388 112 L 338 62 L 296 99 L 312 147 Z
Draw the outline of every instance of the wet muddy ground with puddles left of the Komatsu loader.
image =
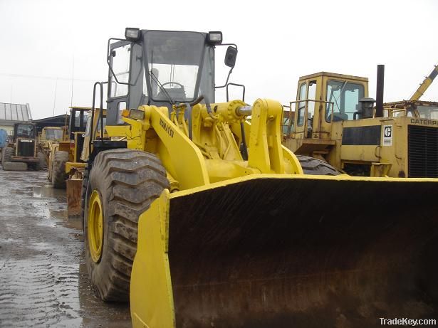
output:
M 130 327 L 129 305 L 95 297 L 80 219 L 46 175 L 0 169 L 0 327 Z

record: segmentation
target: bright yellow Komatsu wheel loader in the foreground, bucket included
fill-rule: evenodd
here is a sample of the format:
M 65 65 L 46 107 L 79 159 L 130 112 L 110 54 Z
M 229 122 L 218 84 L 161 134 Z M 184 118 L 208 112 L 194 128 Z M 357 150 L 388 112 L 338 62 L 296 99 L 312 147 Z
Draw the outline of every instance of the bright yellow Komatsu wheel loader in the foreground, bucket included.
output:
M 108 42 L 108 137 L 100 124 L 83 179 L 97 294 L 130 300 L 133 327 L 436 317 L 437 182 L 303 174 L 278 102 L 215 102 L 215 48 L 229 73 L 237 54 L 221 41 L 127 28 Z

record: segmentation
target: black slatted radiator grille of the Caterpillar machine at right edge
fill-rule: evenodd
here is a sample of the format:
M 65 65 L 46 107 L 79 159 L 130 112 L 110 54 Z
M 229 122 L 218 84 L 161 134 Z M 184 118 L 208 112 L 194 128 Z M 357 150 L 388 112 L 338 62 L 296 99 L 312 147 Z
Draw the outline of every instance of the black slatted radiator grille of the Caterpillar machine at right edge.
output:
M 438 129 L 408 126 L 410 178 L 438 178 Z

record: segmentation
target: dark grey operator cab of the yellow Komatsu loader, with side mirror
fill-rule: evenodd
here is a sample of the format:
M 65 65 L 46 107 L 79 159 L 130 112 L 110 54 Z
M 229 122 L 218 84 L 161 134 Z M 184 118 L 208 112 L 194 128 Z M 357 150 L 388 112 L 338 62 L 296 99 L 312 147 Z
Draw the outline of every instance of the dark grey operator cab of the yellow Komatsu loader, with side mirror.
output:
M 221 45 L 221 32 L 127 28 L 125 37 L 108 42 L 108 125 L 122 124 L 120 112 L 140 105 L 172 108 L 200 95 L 214 102 L 214 90 L 221 88 L 214 84 L 214 48 Z M 232 70 L 236 46 L 222 46 L 229 46 L 225 64 Z

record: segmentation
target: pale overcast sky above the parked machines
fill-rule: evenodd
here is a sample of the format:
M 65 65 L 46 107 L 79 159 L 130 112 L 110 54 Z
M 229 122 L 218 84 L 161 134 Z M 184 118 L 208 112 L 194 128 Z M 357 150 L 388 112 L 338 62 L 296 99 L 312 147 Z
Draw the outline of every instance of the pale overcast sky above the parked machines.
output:
M 407 99 L 438 63 L 437 14 L 434 0 L 0 0 L 0 102 L 29 103 L 33 118 L 90 106 L 108 38 L 127 26 L 222 31 L 239 47 L 230 80 L 246 85 L 246 102 L 286 104 L 301 75 L 321 70 L 367 77 L 375 97 L 377 64 L 385 102 Z M 438 79 L 422 99 L 438 101 Z

